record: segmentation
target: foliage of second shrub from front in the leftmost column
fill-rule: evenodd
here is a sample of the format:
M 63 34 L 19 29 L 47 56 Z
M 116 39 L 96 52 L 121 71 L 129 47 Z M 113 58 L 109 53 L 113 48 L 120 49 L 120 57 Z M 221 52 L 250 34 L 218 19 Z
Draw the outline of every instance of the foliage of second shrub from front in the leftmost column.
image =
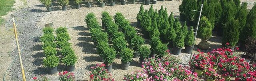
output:
M 46 56 L 46 58 L 48 56 L 52 56 L 52 55 L 56 55 L 57 54 L 57 50 L 56 48 L 52 47 L 52 46 L 46 46 L 44 48 L 44 55 Z

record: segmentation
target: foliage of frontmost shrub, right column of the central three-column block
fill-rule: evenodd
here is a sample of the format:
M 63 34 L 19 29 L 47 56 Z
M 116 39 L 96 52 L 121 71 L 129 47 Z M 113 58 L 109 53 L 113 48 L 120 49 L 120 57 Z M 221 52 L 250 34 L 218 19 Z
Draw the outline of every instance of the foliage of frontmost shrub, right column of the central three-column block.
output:
M 149 54 L 150 54 L 150 49 L 148 46 L 146 45 L 142 45 L 138 48 L 138 54 L 140 54 L 140 59 L 144 60 L 146 58 L 148 58 Z

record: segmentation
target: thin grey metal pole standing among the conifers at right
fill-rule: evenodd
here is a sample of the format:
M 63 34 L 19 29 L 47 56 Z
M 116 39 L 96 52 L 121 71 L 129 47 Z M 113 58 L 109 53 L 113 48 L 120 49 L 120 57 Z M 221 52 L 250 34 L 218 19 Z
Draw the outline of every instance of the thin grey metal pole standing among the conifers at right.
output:
M 196 25 L 196 33 L 195 33 L 194 43 L 193 43 L 193 45 L 192 45 L 192 50 L 191 50 L 191 54 L 190 54 L 190 59 L 189 59 L 189 61 L 190 61 L 190 60 L 191 60 L 191 58 L 192 58 L 193 49 L 194 49 L 194 44 L 195 44 L 195 41 L 196 41 L 196 35 L 197 35 L 197 31 L 198 31 L 198 26 L 199 26 L 199 22 L 200 22 L 201 14 L 202 14 L 203 6 L 204 6 L 204 0 L 202 0 L 202 4 L 201 4 L 201 10 L 200 10 L 200 14 L 199 14 L 198 22 L 197 22 L 197 25 Z

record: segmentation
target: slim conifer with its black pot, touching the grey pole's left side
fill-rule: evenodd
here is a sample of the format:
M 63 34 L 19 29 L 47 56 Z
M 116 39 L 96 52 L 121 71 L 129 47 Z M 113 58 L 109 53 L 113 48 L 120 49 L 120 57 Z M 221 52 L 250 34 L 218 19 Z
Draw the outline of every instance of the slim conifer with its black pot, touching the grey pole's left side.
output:
M 188 31 L 186 38 L 185 38 L 185 50 L 187 53 L 191 53 L 192 52 L 192 45 L 194 44 L 194 31 L 192 30 L 193 27 L 190 27 L 190 31 Z

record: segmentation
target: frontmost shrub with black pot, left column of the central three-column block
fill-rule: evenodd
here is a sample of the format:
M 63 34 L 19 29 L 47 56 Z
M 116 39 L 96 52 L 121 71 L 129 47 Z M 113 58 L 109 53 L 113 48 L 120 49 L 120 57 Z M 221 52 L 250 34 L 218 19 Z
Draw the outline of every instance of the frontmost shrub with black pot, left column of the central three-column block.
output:
M 108 47 L 104 49 L 103 52 L 103 58 L 104 58 L 104 64 L 105 69 L 107 69 L 109 72 L 112 72 L 112 63 L 114 58 L 116 58 L 116 51 L 112 47 Z

